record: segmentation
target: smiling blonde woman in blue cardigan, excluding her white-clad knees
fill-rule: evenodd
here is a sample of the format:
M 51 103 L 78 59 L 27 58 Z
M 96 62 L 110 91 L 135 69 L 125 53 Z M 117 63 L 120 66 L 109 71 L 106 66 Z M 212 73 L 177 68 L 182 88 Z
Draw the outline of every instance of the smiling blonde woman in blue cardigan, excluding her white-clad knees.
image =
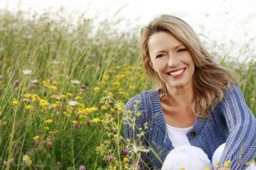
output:
M 230 160 L 232 169 L 244 169 L 256 156 L 256 121 L 235 73 L 216 64 L 195 31 L 171 15 L 143 27 L 141 42 L 145 70 L 160 88 L 126 104 L 125 138 L 150 150 L 137 152 L 133 162 L 161 168 L 167 154 L 183 144 L 199 147 L 212 160 L 225 143 L 220 165 Z

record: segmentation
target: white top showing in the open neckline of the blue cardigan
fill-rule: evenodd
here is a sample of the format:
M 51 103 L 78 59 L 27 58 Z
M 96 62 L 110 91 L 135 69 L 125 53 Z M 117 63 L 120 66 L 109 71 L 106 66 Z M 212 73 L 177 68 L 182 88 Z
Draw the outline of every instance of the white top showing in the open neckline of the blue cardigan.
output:
M 187 133 L 192 129 L 192 127 L 180 128 L 180 127 L 172 127 L 167 125 L 167 133 L 169 139 L 172 141 L 172 145 L 174 148 L 183 144 L 190 144 L 189 139 L 187 137 Z

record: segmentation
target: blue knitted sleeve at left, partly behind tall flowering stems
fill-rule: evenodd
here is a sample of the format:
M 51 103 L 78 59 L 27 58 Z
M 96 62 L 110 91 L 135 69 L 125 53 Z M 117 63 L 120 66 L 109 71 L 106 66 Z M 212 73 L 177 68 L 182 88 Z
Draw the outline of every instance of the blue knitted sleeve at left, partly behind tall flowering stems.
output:
M 137 164 L 142 169 L 150 169 L 148 167 L 148 121 L 145 116 L 147 112 L 141 94 L 130 99 L 125 105 L 125 139 L 131 157 L 130 163 Z

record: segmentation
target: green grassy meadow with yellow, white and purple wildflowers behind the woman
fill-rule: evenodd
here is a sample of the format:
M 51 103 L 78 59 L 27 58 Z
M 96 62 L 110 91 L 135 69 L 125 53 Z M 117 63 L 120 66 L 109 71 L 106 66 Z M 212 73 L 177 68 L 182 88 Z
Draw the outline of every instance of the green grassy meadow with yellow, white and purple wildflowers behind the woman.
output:
M 0 168 L 128 169 L 125 103 L 155 87 L 143 71 L 139 30 L 84 17 L 71 26 L 50 15 L 0 13 Z M 239 73 L 255 114 L 256 62 L 212 53 Z

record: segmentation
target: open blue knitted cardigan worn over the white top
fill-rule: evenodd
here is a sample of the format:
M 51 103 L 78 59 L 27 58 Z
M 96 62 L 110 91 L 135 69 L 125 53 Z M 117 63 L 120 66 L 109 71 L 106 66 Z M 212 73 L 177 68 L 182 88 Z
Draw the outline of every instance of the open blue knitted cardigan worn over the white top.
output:
M 137 100 L 140 103 L 135 109 Z M 125 121 L 125 139 L 139 140 L 137 143 L 151 148 L 141 157 L 140 166 L 143 169 L 160 169 L 173 146 L 166 133 L 159 88 L 137 94 L 130 99 L 125 106 L 125 116 L 134 117 L 135 110 L 140 111 L 141 115 L 136 117 L 135 128 Z M 230 160 L 232 169 L 245 169 L 246 162 L 256 156 L 256 121 L 240 88 L 233 85 L 232 89 L 224 91 L 224 99 L 208 114 L 211 118 L 197 118 L 193 128 L 187 133 L 190 144 L 204 150 L 212 160 L 218 146 L 226 143 L 220 164 Z M 143 138 L 138 139 L 137 134 L 146 122 L 148 128 L 144 130 Z

